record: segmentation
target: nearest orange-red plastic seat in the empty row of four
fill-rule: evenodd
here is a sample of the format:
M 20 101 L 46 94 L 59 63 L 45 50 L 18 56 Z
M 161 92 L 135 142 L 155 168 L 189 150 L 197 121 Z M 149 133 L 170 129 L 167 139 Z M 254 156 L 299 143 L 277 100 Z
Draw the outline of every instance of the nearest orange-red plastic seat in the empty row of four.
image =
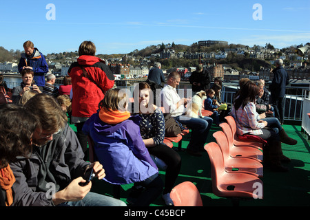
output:
M 225 170 L 220 146 L 215 142 L 205 145 L 211 162 L 212 191 L 218 197 L 247 197 L 262 199 L 262 180 L 247 173 L 229 173 Z

